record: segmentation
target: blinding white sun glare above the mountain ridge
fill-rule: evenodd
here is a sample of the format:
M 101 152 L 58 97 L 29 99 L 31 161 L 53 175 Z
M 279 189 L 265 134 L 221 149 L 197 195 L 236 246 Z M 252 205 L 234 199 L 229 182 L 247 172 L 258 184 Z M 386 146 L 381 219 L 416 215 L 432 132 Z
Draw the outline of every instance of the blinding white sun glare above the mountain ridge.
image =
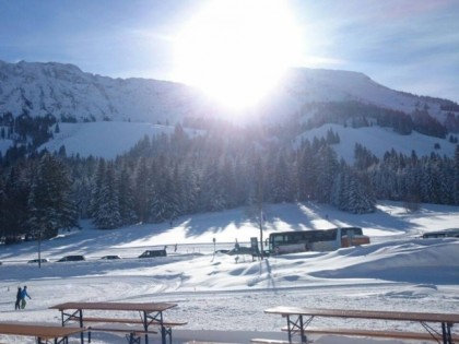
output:
M 175 39 L 174 79 L 231 109 L 257 105 L 298 58 L 283 0 L 214 0 Z

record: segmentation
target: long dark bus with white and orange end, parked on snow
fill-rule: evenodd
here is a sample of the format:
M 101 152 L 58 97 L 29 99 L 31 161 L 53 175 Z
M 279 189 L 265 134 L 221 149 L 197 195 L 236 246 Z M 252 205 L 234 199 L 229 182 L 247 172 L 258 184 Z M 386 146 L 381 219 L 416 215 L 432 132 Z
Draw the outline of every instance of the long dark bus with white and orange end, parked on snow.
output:
M 360 227 L 279 232 L 268 238 L 270 254 L 333 251 L 365 244 L 369 244 L 369 237 L 363 235 Z

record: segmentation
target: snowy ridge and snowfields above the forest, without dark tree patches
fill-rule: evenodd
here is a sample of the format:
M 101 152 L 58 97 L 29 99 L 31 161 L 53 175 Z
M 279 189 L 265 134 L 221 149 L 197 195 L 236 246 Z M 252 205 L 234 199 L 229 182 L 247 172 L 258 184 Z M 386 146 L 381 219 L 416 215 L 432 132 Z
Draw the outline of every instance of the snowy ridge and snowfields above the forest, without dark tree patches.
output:
M 263 120 L 270 118 L 282 122 L 301 111 L 307 103 L 355 100 L 407 114 L 416 108 L 428 108 L 429 114 L 440 122 L 446 116 L 446 111 L 439 109 L 439 99 L 400 93 L 377 84 L 362 73 L 337 70 L 294 69 L 257 108 L 238 114 L 217 108 L 203 95 L 181 84 L 104 78 L 84 73 L 71 64 L 0 61 L 0 114 L 52 114 L 59 120 L 64 116 L 80 121 L 96 121 L 62 123 L 61 133 L 40 149 L 57 151 L 64 145 L 68 154 L 107 158 L 128 151 L 144 134 L 170 131 L 170 128 L 152 123 L 168 122 L 174 126 L 188 115 L 222 116 L 238 122 L 262 117 Z M 414 150 L 420 156 L 426 155 L 434 151 L 436 143 L 439 143 L 440 150 L 435 152 L 447 156 L 454 152 L 454 145 L 446 140 L 416 132 L 398 135 L 377 127 L 355 130 L 326 124 L 304 133 L 298 140 L 323 137 L 329 128 L 339 133 L 341 143 L 334 149 L 348 162 L 353 159 L 356 142 L 370 149 L 378 157 L 391 149 L 404 154 Z M 0 139 L 0 152 L 4 154 L 12 144 L 11 140 Z

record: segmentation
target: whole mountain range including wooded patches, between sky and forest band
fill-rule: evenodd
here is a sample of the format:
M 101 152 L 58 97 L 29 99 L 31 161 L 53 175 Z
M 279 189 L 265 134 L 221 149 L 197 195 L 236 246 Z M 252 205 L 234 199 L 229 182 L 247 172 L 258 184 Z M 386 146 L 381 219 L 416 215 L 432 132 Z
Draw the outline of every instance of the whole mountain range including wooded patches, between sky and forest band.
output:
M 21 139 L 21 130 L 14 128 L 12 118 L 24 115 L 52 115 L 61 131 L 35 134 L 32 140 L 22 134 Z M 346 161 L 352 161 L 356 142 L 370 147 L 378 157 L 391 149 L 428 155 L 438 147 L 438 153 L 451 156 L 457 139 L 448 141 L 447 133 L 459 132 L 456 103 L 397 92 L 363 73 L 340 70 L 292 69 L 257 107 L 247 114 L 232 115 L 197 90 L 179 83 L 111 79 L 56 62 L 0 61 L 2 154 L 16 143 L 35 141 L 36 147 L 42 145 L 49 151 L 64 145 L 70 154 L 113 158 L 145 134 L 172 132 L 168 124 L 181 122 L 187 127 L 190 121 L 186 118 L 205 117 L 231 119 L 235 124 L 261 120 L 264 124 L 283 126 L 290 128 L 283 132 L 286 142 L 326 138 L 332 129 L 341 139 L 334 149 Z M 10 133 L 5 133 L 8 128 Z M 11 134 L 12 131 L 15 132 Z M 99 140 L 102 132 L 106 132 L 105 139 Z

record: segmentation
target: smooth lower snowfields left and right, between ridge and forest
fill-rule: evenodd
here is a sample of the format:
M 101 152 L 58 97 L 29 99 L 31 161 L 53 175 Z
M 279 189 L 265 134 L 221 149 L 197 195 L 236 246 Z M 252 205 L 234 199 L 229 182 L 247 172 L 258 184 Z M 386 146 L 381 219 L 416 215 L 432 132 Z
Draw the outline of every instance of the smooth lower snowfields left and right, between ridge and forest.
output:
M 59 129 L 60 132 L 55 133 L 55 138 L 42 145 L 39 150 L 46 149 L 50 152 L 58 152 L 64 145 L 68 156 L 79 154 L 81 157 L 92 155 L 107 159 L 127 153 L 145 135 L 152 137 L 162 132 L 174 132 L 172 126 L 122 121 L 60 123 Z M 414 131 L 410 135 L 400 135 L 387 128 L 354 129 L 339 124 L 325 124 L 313 129 L 298 137 L 297 142 L 303 139 L 313 141 L 314 138 L 327 138 L 327 131 L 330 129 L 340 137 L 340 143 L 332 145 L 332 147 L 338 156 L 344 158 L 348 163 L 354 161 L 355 143 L 363 144 L 379 158 L 392 149 L 408 156 L 411 155 L 412 151 L 415 151 L 420 157 L 428 156 L 432 152 L 452 157 L 456 149 L 456 145 L 447 139 L 426 137 Z M 193 135 L 200 131 L 188 129 L 187 132 Z M 439 150 L 434 149 L 436 143 L 439 143 Z

